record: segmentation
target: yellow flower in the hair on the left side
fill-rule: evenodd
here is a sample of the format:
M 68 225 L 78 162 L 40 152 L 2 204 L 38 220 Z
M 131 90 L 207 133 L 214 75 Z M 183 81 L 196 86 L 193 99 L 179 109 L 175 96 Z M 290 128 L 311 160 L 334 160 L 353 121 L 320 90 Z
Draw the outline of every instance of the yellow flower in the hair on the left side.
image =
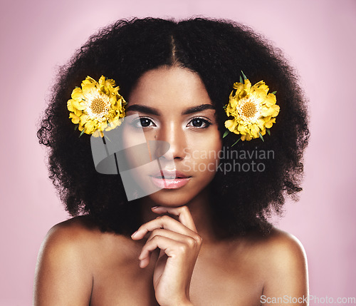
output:
M 79 131 L 103 137 L 103 131 L 120 126 L 127 103 L 118 93 L 119 89 L 114 80 L 105 79 L 105 76 L 101 76 L 99 82 L 87 76 L 81 88 L 74 88 L 67 108 L 69 118 L 78 124 Z

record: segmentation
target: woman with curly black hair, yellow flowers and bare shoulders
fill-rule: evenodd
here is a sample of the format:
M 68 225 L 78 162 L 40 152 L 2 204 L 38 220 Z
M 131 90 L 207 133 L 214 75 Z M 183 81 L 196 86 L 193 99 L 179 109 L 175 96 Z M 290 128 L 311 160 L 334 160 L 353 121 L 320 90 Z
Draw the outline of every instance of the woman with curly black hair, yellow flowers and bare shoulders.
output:
M 109 125 L 85 113 L 88 88 L 115 96 Z M 34 304 L 306 305 L 303 247 L 266 220 L 301 190 L 304 101 L 281 52 L 230 21 L 133 19 L 92 36 L 61 70 L 38 131 L 74 218 L 43 242 Z M 159 160 L 158 173 L 132 176 L 134 200 L 122 175 L 95 170 L 90 148 L 89 135 L 112 143 L 104 133 L 121 121 L 123 146 L 143 131 Z M 169 150 L 152 153 L 155 141 Z

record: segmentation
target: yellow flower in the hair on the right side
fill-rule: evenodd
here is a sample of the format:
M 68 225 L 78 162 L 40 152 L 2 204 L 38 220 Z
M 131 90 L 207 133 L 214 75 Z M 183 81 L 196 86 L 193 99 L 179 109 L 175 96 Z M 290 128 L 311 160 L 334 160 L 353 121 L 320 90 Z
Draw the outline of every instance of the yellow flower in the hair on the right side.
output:
M 236 134 L 241 134 L 242 141 L 251 141 L 266 134 L 266 128 L 276 123 L 279 106 L 276 96 L 268 93 L 268 86 L 259 81 L 251 86 L 245 79 L 244 83 L 234 83 L 229 103 L 225 107 L 226 115 L 234 117 L 225 121 L 225 127 Z

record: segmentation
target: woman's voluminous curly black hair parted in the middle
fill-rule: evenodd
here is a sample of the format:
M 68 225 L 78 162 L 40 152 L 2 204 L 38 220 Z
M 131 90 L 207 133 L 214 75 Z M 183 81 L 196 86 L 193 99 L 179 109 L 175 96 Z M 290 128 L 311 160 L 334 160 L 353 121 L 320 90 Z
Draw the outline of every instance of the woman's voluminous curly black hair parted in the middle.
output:
M 91 215 L 104 231 L 128 234 L 140 226 L 137 200 L 127 201 L 120 175 L 95 171 L 90 137 L 78 137 L 80 132 L 74 131 L 67 101 L 86 76 L 112 78 L 128 97 L 143 73 L 173 65 L 199 74 L 216 107 L 221 137 L 226 131 L 223 106 L 241 71 L 252 84 L 263 80 L 277 91 L 281 111 L 271 136 L 231 147 L 239 136 L 229 133 L 223 139 L 225 156 L 211 182 L 212 210 L 226 233 L 256 227 L 268 232 L 268 216 L 283 211 L 286 195 L 295 198 L 302 190 L 307 107 L 282 52 L 247 26 L 226 20 L 120 20 L 91 36 L 60 69 L 38 139 L 50 148 L 50 178 L 66 210 L 72 216 Z

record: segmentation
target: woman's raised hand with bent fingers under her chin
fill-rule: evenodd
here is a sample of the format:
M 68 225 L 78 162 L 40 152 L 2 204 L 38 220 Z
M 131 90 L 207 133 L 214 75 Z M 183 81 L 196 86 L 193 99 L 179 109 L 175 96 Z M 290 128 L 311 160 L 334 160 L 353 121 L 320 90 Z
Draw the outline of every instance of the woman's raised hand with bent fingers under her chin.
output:
M 201 237 L 197 233 L 192 215 L 187 206 L 157 206 L 152 211 L 177 215 L 179 221 L 163 215 L 141 225 L 132 235 L 133 240 L 140 240 L 151 232 L 139 256 L 140 267 L 147 267 L 152 251 L 159 248 L 153 275 L 157 302 L 161 306 L 192 305 L 189 300 L 189 286 L 201 247 Z

